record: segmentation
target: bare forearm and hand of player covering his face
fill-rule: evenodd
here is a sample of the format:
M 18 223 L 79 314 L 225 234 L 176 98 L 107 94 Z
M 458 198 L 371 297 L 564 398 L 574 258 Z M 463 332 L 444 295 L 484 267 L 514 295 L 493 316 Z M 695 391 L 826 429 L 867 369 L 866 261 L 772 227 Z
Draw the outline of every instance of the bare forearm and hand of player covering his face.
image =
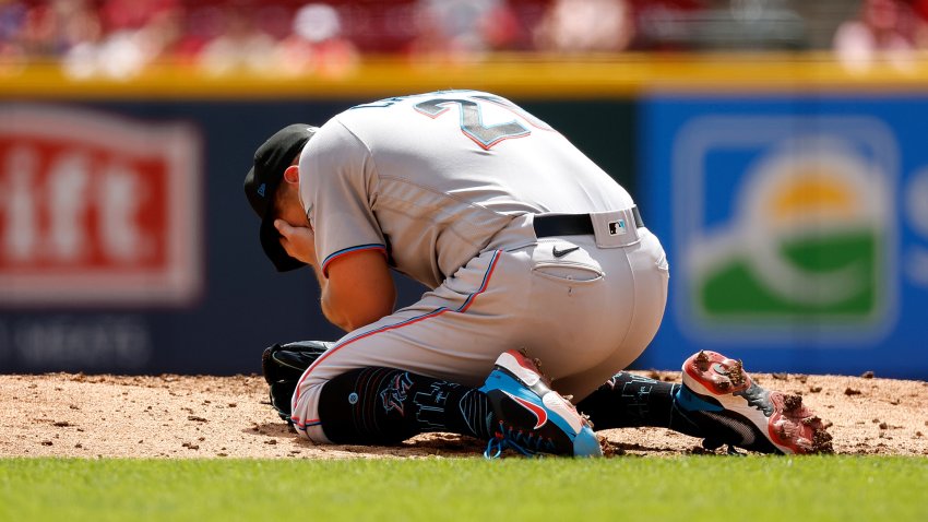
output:
M 357 250 L 335 257 L 323 273 L 316 256 L 312 228 L 292 226 L 283 220 L 274 225 L 287 253 L 316 272 L 322 313 L 330 322 L 350 332 L 393 312 L 396 288 L 382 250 Z

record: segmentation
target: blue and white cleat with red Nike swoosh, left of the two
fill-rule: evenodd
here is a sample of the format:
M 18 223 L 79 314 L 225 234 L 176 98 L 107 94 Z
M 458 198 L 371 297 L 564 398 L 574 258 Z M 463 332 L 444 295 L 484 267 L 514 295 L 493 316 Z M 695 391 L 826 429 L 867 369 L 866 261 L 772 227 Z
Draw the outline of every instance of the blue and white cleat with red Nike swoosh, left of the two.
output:
M 484 452 L 488 459 L 507 448 L 524 455 L 603 456 L 590 422 L 551 390 L 535 364 L 521 353 L 500 355 L 480 391 L 489 398 L 497 423 L 496 435 Z

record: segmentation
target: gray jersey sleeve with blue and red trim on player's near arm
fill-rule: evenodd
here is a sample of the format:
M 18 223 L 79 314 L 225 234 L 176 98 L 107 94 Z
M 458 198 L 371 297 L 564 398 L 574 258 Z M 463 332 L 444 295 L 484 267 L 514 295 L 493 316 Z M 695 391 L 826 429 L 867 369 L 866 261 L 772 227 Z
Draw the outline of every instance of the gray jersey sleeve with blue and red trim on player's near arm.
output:
M 299 159 L 300 198 L 316 232 L 316 253 L 328 277 L 335 259 L 386 242 L 371 210 L 377 176 L 370 150 L 337 119 L 322 126 Z

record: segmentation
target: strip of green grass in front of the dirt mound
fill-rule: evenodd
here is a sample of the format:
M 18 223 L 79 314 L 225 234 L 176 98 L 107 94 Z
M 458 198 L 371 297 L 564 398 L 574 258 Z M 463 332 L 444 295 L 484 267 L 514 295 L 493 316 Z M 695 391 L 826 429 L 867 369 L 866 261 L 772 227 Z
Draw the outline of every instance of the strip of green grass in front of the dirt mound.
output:
M 926 521 L 928 459 L 0 460 L 0 521 Z

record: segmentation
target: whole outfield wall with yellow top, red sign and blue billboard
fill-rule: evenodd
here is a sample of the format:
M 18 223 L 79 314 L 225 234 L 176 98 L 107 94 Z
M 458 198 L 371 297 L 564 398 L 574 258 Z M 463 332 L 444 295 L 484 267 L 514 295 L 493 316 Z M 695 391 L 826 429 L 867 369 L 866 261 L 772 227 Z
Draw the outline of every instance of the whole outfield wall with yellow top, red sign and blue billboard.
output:
M 671 298 L 639 367 L 715 348 L 756 369 L 926 378 L 926 86 L 918 64 L 848 74 L 817 56 L 0 70 L 0 371 L 250 372 L 274 341 L 334 339 L 311 275 L 260 251 L 241 194 L 254 146 L 357 103 L 474 87 L 576 143 L 664 240 Z

